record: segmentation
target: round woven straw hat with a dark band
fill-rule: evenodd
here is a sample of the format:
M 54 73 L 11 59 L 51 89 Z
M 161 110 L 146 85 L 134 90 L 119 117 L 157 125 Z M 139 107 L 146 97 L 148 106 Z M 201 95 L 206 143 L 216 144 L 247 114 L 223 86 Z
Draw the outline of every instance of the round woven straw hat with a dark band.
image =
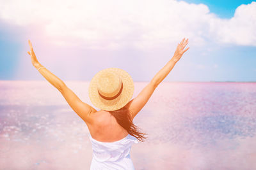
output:
M 92 104 L 108 111 L 123 108 L 129 103 L 133 92 L 134 83 L 129 73 L 115 67 L 99 71 L 89 85 Z

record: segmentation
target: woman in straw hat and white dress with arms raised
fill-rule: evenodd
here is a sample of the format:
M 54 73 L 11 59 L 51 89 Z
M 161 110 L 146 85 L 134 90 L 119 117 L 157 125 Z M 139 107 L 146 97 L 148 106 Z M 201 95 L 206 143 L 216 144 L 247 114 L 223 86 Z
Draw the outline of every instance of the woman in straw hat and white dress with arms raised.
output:
M 92 142 L 93 159 L 90 169 L 134 169 L 130 157 L 133 143 L 145 139 L 145 133 L 138 131 L 132 120 L 145 106 L 156 87 L 170 73 L 188 48 L 188 39 L 182 39 L 168 63 L 154 76 L 140 94 L 131 99 L 134 85 L 131 76 L 124 70 L 108 68 L 99 71 L 90 81 L 89 97 L 97 111 L 83 103 L 65 83 L 52 74 L 36 59 L 29 41 L 33 66 L 58 89 L 69 106 L 88 126 L 88 137 Z

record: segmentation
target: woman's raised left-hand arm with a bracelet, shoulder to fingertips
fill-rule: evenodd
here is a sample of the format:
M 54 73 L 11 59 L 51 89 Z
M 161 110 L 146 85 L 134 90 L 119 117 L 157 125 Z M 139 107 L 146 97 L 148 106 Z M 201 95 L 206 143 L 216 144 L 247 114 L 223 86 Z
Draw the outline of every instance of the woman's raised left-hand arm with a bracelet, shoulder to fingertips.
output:
M 81 117 L 86 124 L 92 124 L 93 120 L 90 117 L 90 113 L 95 112 L 95 110 L 92 106 L 89 104 L 83 103 L 79 99 L 79 97 L 76 96 L 76 94 L 65 85 L 65 83 L 60 80 L 56 75 L 51 73 L 48 69 L 42 66 L 36 59 L 35 52 L 33 50 L 32 44 L 29 41 L 29 46 L 30 46 L 30 52 L 28 54 L 31 56 L 31 62 L 33 66 L 38 69 L 38 72 L 44 76 L 44 78 L 49 81 L 56 89 L 58 89 L 62 96 L 65 98 L 69 106 L 74 110 L 79 117 Z

